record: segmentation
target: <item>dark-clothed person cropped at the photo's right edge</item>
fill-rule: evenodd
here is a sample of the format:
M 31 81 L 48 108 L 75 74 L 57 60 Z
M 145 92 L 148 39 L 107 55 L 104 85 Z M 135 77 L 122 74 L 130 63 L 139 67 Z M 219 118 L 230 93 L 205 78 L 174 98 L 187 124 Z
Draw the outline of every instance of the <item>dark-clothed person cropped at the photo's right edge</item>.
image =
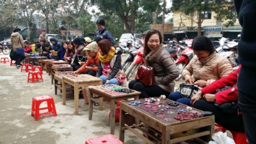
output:
M 237 45 L 238 61 L 242 65 L 237 80 L 238 102 L 248 142 L 256 144 L 256 1 L 234 0 L 234 3 L 243 28 Z

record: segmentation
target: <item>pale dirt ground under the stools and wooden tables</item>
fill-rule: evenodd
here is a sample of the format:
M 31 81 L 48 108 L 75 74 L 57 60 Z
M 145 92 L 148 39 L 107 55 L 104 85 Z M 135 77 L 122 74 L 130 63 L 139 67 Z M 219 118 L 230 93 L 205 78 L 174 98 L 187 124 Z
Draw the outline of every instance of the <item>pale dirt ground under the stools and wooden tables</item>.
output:
M 0 54 L 3 57 L 7 56 Z M 58 95 L 54 94 L 51 77 L 45 71 L 43 78 L 44 82 L 28 83 L 28 73 L 20 72 L 20 68 L 10 63 L 0 63 L 0 144 L 82 144 L 88 138 L 110 133 L 108 108 L 99 111 L 93 106 L 92 120 L 88 120 L 89 106 L 79 99 L 79 115 L 75 115 L 73 93 L 67 93 L 63 105 L 60 90 Z M 42 116 L 35 121 L 31 116 L 31 100 L 41 95 L 54 98 L 58 116 Z M 119 136 L 118 123 L 115 136 Z M 134 143 L 145 142 L 125 131 L 125 144 Z

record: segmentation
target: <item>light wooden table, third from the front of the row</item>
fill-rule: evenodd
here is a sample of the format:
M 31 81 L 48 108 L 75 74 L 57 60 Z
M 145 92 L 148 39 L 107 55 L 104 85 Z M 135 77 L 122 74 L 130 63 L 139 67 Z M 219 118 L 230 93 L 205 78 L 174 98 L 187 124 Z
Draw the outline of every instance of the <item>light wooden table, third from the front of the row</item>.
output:
M 78 114 L 79 88 L 84 86 L 97 86 L 102 84 L 102 79 L 88 74 L 62 77 L 62 103 L 66 104 L 66 84 L 74 87 L 75 113 Z

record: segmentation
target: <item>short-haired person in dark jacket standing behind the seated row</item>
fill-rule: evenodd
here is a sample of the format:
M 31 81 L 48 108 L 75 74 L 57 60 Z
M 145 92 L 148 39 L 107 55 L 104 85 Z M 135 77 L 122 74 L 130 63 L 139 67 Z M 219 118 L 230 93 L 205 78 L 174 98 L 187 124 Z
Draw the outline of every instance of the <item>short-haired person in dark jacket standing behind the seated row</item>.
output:
M 98 19 L 97 22 L 97 32 L 96 36 L 100 36 L 102 39 L 108 39 L 111 45 L 115 45 L 115 40 L 113 40 L 112 34 L 105 28 L 105 21 L 103 19 Z

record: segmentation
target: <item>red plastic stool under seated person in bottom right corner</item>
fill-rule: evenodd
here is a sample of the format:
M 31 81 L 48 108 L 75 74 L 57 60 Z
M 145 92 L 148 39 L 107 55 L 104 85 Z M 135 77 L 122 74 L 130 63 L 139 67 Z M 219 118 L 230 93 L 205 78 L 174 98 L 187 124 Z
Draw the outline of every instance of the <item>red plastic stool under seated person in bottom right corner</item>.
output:
M 221 127 L 221 125 L 218 125 L 215 123 L 215 126 L 218 127 L 217 129 L 215 129 L 215 132 L 218 131 L 222 131 L 222 132 L 226 132 L 228 129 L 225 129 L 224 127 Z M 230 131 L 230 130 L 228 130 Z M 235 141 L 236 144 L 249 144 L 246 141 L 246 135 L 245 132 L 237 132 L 237 131 L 230 131 L 232 133 L 233 136 L 233 140 Z

